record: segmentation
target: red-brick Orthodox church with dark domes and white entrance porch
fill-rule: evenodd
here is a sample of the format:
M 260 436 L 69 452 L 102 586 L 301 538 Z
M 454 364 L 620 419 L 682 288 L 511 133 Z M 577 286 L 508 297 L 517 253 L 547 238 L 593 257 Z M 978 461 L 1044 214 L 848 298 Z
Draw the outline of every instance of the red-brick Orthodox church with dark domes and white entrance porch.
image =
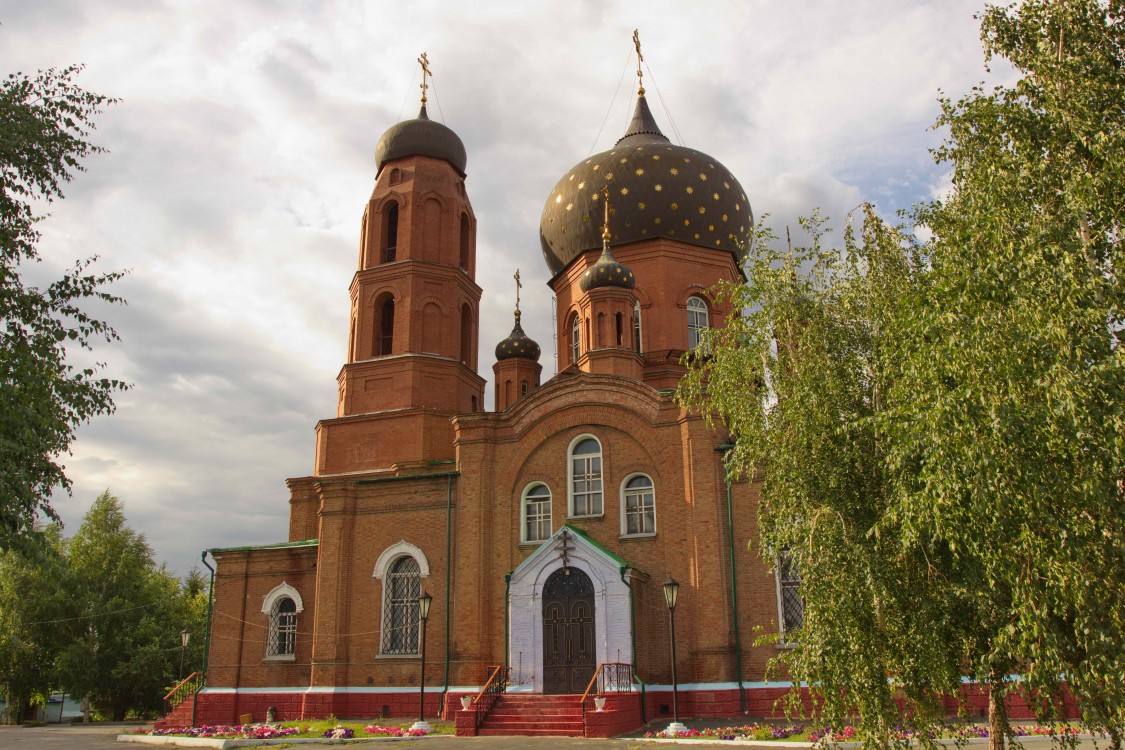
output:
M 459 698 L 490 678 L 513 699 L 580 696 L 614 669 L 586 734 L 670 717 L 669 577 L 680 715 L 772 714 L 780 647 L 754 643 L 800 623 L 795 581 L 747 551 L 757 487 L 727 481 L 727 435 L 673 397 L 700 331 L 732 314 L 709 290 L 741 279 L 742 188 L 664 136 L 641 81 L 616 144 L 546 195 L 559 371 L 543 379 L 516 298 L 486 410 L 467 164 L 423 76 L 417 118 L 376 148 L 339 405 L 313 475 L 287 481 L 289 539 L 208 551 L 192 717 L 417 716 L 423 651 L 426 716 L 475 712 Z

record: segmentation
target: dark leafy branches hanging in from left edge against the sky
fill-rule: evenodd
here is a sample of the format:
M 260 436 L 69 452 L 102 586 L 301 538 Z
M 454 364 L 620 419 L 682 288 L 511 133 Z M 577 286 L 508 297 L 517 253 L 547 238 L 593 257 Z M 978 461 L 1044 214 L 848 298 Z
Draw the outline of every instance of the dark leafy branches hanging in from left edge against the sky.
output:
M 88 136 L 112 100 L 74 85 L 80 70 L 0 83 L 0 550 L 26 549 L 40 514 L 57 519 L 51 494 L 71 487 L 60 457 L 76 427 L 111 412 L 114 392 L 125 388 L 98 368 L 66 362 L 68 346 L 116 338 L 83 305 L 123 301 L 106 291 L 122 274 L 92 272 L 96 259 L 88 259 L 44 289 L 25 281 L 38 260 L 36 208 L 62 198 L 82 160 L 102 151 Z

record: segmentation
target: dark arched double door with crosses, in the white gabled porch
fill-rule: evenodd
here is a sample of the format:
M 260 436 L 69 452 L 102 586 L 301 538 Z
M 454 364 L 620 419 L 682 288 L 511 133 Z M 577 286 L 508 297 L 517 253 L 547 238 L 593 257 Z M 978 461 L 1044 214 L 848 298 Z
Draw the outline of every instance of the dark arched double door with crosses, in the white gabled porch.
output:
M 560 568 L 543 586 L 543 693 L 576 695 L 594 676 L 594 585 Z

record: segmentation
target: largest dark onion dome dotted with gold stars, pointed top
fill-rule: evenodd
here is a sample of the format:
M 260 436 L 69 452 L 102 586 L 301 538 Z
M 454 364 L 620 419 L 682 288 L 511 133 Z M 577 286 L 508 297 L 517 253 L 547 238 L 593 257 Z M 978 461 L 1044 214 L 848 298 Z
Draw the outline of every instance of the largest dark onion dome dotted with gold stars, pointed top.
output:
M 551 190 L 539 223 L 543 257 L 557 274 L 602 244 L 602 189 L 609 187 L 613 246 L 665 237 L 723 250 L 739 260 L 754 215 L 730 171 L 660 133 L 644 94 L 632 121 L 609 151 L 583 160 Z

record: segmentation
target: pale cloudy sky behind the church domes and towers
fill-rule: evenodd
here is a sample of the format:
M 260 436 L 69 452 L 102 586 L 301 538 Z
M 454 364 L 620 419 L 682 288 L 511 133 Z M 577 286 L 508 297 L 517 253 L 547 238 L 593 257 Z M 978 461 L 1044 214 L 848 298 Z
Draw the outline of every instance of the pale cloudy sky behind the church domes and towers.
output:
M 480 374 L 511 329 L 520 268 L 546 378 L 539 216 L 558 178 L 623 132 L 633 28 L 665 134 L 722 161 L 783 235 L 813 207 L 840 219 L 871 200 L 893 216 L 944 188 L 930 125 L 940 91 L 986 76 L 981 7 L 0 0 L 0 73 L 80 62 L 81 85 L 120 100 L 94 134 L 109 153 L 40 225 L 34 270 L 97 254 L 129 271 L 116 288 L 128 306 L 104 310 L 122 341 L 96 356 L 133 389 L 66 458 L 68 532 L 108 487 L 179 572 L 206 548 L 286 539 L 285 479 L 312 471 L 314 426 L 335 414 L 372 153 L 417 111 L 421 52 L 431 117 L 469 155 Z

